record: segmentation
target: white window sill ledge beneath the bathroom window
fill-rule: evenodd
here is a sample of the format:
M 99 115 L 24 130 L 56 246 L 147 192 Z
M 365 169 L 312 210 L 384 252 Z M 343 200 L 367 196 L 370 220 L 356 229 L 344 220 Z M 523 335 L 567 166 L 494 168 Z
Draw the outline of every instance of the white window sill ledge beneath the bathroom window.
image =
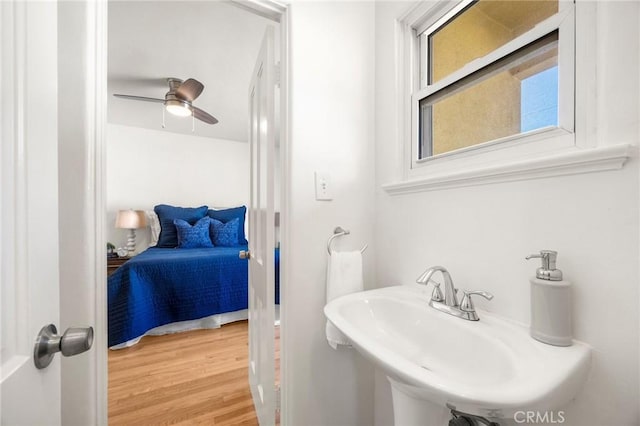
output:
M 510 161 L 462 172 L 441 172 L 382 185 L 390 195 L 434 191 L 499 182 L 539 179 L 581 173 L 619 170 L 631 156 L 632 145 L 612 145 L 554 154 L 523 161 Z

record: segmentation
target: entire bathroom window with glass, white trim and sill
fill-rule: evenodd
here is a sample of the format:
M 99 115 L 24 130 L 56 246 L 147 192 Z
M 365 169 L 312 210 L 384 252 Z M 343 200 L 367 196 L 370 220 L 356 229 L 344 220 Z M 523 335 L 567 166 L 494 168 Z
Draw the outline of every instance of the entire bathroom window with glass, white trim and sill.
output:
M 401 195 L 622 168 L 632 147 L 596 132 L 597 9 L 572 0 L 413 3 L 394 26 L 389 144 L 398 163 L 382 188 Z M 463 30 L 482 15 L 487 25 Z M 509 34 L 489 43 L 496 23 Z

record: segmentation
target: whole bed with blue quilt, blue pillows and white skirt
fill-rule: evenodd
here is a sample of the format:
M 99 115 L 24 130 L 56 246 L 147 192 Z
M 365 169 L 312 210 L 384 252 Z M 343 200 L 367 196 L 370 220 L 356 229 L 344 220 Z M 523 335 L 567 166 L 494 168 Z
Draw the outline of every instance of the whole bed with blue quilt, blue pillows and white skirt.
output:
M 246 207 L 158 204 L 146 212 L 152 245 L 108 281 L 109 347 L 144 335 L 216 328 L 248 316 Z M 279 304 L 279 250 L 275 252 Z

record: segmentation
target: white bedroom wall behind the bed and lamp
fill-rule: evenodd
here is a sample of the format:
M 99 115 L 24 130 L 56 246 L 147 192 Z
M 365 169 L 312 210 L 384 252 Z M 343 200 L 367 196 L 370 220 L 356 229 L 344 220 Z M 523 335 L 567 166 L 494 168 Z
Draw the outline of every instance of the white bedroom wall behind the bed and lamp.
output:
M 120 247 L 127 231 L 114 227 L 120 209 L 156 204 L 234 207 L 249 203 L 249 144 L 109 124 L 107 237 Z M 137 248 L 149 230 L 137 231 Z

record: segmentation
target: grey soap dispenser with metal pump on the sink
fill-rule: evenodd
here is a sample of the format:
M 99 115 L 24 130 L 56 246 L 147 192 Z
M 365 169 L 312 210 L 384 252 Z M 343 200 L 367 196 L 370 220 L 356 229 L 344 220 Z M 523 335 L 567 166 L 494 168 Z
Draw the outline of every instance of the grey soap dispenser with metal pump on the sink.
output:
M 541 250 L 527 260 L 540 258 L 542 266 L 531 278 L 531 337 L 554 346 L 571 346 L 571 283 L 556 269 L 558 252 Z

